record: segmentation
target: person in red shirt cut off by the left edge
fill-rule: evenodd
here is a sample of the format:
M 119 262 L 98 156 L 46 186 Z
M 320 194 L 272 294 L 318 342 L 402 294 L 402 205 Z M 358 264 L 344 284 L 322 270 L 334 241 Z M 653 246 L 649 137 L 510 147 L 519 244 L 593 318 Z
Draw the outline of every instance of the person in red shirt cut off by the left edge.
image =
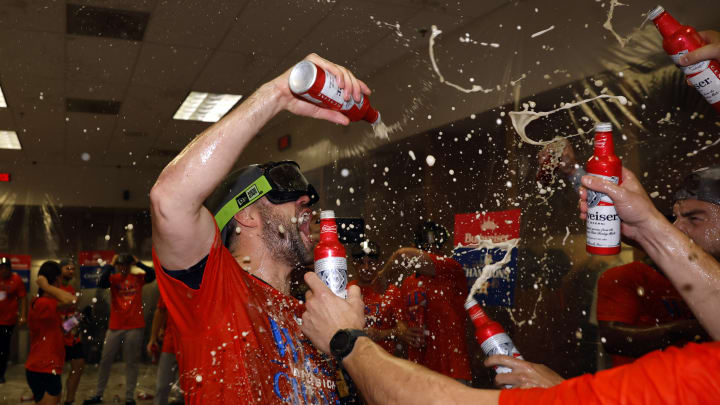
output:
M 20 308 L 20 316 L 18 316 Z M 25 284 L 12 272 L 9 257 L 0 257 L 0 384 L 5 383 L 5 370 L 10 359 L 10 341 L 15 325 L 27 319 Z

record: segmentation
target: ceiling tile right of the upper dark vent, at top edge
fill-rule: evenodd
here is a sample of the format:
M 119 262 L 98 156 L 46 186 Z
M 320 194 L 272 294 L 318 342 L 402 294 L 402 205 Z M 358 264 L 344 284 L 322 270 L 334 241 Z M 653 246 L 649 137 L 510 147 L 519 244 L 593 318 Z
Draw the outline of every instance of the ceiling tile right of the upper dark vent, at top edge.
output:
M 245 0 L 163 1 L 150 18 L 145 41 L 214 48 L 222 41 L 244 4 Z

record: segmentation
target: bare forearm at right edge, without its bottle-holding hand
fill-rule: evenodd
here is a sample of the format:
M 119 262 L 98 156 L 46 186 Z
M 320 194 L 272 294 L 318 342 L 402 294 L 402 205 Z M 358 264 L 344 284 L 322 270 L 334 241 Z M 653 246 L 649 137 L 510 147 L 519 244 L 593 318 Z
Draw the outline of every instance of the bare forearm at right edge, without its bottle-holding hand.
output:
M 658 219 L 638 242 L 660 266 L 713 339 L 720 339 L 720 263 L 669 222 Z

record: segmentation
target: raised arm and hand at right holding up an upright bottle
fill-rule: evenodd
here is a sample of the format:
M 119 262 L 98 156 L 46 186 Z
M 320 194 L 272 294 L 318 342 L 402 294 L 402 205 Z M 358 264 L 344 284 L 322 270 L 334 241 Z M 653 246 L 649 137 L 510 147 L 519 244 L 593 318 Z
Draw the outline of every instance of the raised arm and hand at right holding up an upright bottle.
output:
M 622 233 L 643 247 L 680 292 L 713 339 L 720 339 L 720 263 L 674 227 L 655 208 L 635 175 L 623 168 L 623 183 L 611 184 L 585 176 L 583 186 L 606 193 L 623 220 Z M 580 191 L 581 218 L 585 219 L 586 190 Z

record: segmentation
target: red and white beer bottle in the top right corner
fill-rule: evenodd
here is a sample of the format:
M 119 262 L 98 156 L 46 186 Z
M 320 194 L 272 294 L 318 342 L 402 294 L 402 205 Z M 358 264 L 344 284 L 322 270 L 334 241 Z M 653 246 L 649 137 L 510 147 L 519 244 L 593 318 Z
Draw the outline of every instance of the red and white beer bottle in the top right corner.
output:
M 720 112 L 720 63 L 714 59 L 705 60 L 690 66 L 680 66 L 680 58 L 702 46 L 707 45 L 695 28 L 680 25 L 662 6 L 650 11 L 648 18 L 655 23 L 663 37 L 663 48 L 673 62 L 678 65 L 688 81 L 697 91 Z

